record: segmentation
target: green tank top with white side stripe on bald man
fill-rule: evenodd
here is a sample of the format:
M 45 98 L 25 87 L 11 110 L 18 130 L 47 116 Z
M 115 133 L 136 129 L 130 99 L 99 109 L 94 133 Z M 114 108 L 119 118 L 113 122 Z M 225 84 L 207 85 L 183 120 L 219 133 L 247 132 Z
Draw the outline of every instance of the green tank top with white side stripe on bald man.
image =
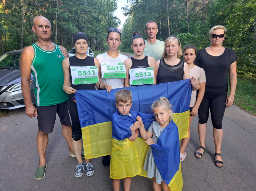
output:
M 35 100 L 37 106 L 57 105 L 68 100 L 68 94 L 63 90 L 64 76 L 62 54 L 58 45 L 53 51 L 45 51 L 33 44 L 34 58 L 31 73 L 35 79 Z

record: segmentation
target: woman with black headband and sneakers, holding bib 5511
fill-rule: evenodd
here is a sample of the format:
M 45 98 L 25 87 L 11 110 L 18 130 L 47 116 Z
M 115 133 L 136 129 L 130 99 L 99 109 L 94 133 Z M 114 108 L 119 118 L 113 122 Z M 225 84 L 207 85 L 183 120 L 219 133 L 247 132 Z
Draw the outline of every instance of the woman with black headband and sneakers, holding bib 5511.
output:
M 106 89 L 108 92 L 112 89 L 111 85 L 104 84 L 100 81 L 99 61 L 96 58 L 87 56 L 88 38 L 84 33 L 78 32 L 73 36 L 74 47 L 76 54 L 69 58 L 65 58 L 62 62 L 62 68 L 64 73 L 64 85 L 63 90 L 69 94 L 68 109 L 71 117 L 72 128 L 72 146 L 75 152 L 74 157 L 77 159 L 78 165 L 75 170 L 75 177 L 79 178 L 83 175 L 84 166 L 86 168 L 86 175 L 92 176 L 94 174 L 93 165 L 90 163 L 90 159 L 85 160 L 83 164 L 84 154 L 82 153 L 82 129 L 79 122 L 75 92 L 77 89 L 94 89 L 97 88 Z M 98 83 L 83 83 L 81 78 L 86 75 L 87 69 L 90 66 L 97 66 L 99 82 Z M 77 70 L 78 69 L 78 70 Z M 83 71 L 86 70 L 86 71 Z M 88 72 L 88 71 L 87 71 Z M 94 70 L 91 72 L 95 72 Z M 82 77 L 83 76 L 83 77 Z M 87 78 L 88 79 L 88 78 Z M 82 154 L 81 154 L 82 153 Z M 71 156 L 71 154 L 70 154 Z M 73 155 L 72 155 L 73 156 Z

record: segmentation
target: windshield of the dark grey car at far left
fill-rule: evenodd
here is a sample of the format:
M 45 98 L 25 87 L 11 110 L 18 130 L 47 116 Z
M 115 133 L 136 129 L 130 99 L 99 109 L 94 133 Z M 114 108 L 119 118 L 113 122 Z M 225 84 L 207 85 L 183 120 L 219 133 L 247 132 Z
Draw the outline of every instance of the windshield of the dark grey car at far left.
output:
M 19 69 L 20 52 L 6 53 L 0 57 L 0 69 Z

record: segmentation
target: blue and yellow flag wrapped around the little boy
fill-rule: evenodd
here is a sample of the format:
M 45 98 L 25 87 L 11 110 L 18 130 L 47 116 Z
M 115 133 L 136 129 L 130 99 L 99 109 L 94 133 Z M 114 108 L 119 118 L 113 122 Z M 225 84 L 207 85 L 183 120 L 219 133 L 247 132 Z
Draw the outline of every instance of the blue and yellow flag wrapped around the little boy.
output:
M 133 177 L 141 173 L 138 152 L 134 141 L 130 141 L 132 132 L 129 127 L 140 116 L 146 129 L 155 120 L 154 115 L 130 111 L 131 115 L 121 115 L 116 111 L 112 115 L 112 152 L 110 162 L 110 177 L 121 179 Z

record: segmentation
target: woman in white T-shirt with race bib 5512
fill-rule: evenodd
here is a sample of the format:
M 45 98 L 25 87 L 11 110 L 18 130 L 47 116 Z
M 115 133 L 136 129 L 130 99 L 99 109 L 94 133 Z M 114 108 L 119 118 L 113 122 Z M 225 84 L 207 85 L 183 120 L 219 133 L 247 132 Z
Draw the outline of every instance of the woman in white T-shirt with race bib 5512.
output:
M 123 63 L 128 59 L 128 57 L 118 52 L 118 47 L 121 44 L 121 32 L 122 31 L 120 29 L 109 28 L 106 39 L 109 45 L 109 50 L 96 56 L 100 63 L 100 71 L 102 74 L 100 79 L 101 82 L 110 84 L 113 89 L 123 88 L 124 78 L 126 77 L 125 65 Z M 139 132 L 132 136 L 133 139 L 134 136 L 138 137 Z M 109 155 L 103 156 L 102 164 L 105 167 L 110 165 Z

